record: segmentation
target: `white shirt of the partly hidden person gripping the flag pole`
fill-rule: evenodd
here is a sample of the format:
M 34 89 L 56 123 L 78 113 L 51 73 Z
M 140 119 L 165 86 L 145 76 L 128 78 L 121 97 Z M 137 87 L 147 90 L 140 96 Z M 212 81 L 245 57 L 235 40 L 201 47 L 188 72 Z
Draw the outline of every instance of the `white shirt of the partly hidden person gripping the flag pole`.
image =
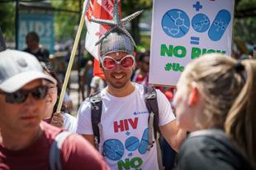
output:
M 64 119 L 64 129 L 75 133 L 77 129 L 77 118 L 68 113 L 62 113 Z

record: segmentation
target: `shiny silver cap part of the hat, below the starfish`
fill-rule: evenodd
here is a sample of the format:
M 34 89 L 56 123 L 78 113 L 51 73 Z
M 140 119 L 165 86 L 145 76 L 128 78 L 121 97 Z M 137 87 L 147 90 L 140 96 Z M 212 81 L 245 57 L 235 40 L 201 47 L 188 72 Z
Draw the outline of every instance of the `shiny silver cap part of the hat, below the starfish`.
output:
M 108 53 L 124 52 L 131 55 L 134 54 L 134 46 L 130 38 L 121 32 L 111 32 L 101 42 L 101 57 L 106 56 Z

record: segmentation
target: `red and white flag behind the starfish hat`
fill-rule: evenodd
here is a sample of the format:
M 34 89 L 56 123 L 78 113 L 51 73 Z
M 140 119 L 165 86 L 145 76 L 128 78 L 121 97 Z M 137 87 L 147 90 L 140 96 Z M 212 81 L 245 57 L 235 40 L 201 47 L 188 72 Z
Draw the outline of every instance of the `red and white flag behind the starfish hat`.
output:
M 89 2 L 88 2 L 89 1 Z M 102 34 L 105 34 L 110 28 L 107 25 L 99 25 L 91 22 L 90 18 L 111 20 L 113 17 L 114 0 L 85 0 L 83 2 L 83 11 L 88 3 L 88 10 L 86 11 L 85 24 L 87 26 L 87 34 L 85 40 L 85 48 L 94 57 L 94 76 L 104 77 L 104 74 L 99 66 L 99 45 L 95 46 L 97 40 Z M 121 13 L 121 1 L 118 2 Z

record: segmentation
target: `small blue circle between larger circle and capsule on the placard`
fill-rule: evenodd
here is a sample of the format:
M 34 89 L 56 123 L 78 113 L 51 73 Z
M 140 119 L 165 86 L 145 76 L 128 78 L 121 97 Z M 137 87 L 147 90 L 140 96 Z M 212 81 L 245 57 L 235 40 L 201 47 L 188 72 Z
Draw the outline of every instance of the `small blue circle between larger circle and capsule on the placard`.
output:
M 197 14 L 192 18 L 192 27 L 199 33 L 203 33 L 210 27 L 210 20 L 205 14 Z

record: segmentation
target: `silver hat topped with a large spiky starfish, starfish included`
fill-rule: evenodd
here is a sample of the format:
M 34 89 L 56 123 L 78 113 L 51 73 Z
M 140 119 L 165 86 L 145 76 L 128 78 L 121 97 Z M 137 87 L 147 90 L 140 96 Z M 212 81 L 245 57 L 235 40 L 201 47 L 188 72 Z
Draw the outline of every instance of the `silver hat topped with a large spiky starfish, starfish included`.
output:
M 118 2 L 115 0 L 114 13 L 112 20 L 101 20 L 92 18 L 91 21 L 100 25 L 110 26 L 111 29 L 107 30 L 105 34 L 97 41 L 97 44 L 101 44 L 101 56 L 105 56 L 107 53 L 113 52 L 126 52 L 133 54 L 134 47 L 136 46 L 135 40 L 131 37 L 125 25 L 139 16 L 143 10 L 136 11 L 130 16 L 120 20 Z

